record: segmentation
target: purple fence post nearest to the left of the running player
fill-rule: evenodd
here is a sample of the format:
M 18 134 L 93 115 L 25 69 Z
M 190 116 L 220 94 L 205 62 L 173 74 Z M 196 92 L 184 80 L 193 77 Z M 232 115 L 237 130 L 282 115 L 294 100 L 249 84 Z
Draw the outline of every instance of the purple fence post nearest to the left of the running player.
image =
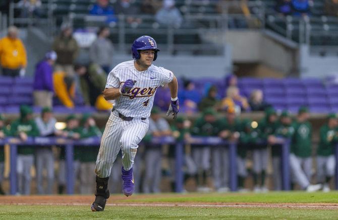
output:
M 74 146 L 66 144 L 67 194 L 74 194 Z

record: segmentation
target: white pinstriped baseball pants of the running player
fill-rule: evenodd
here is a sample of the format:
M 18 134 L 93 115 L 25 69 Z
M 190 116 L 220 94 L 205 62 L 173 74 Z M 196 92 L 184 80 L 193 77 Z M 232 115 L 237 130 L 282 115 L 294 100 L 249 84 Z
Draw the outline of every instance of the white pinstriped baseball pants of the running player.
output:
M 122 149 L 122 165 L 128 171 L 133 167 L 138 144 L 147 133 L 149 120 L 134 118 L 122 120 L 118 112 L 110 113 L 101 138 L 100 150 L 96 159 L 95 173 L 100 178 L 110 176 L 113 163 Z

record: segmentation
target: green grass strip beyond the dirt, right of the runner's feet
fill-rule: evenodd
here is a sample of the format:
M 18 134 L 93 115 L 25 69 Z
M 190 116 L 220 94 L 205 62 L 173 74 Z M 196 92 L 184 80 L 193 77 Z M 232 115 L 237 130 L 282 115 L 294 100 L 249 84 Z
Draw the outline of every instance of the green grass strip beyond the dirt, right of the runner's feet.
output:
M 160 194 L 144 198 L 130 197 L 119 202 L 263 202 L 263 203 L 338 203 L 338 191 L 330 193 L 304 191 L 269 193 L 189 193 Z

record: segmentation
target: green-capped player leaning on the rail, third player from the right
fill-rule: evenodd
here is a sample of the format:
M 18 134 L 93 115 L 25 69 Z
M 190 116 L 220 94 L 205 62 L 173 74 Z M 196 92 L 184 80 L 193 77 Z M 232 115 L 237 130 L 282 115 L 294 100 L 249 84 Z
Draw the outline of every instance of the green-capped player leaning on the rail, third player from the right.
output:
M 271 145 L 272 167 L 273 167 L 273 188 L 274 190 L 281 190 L 281 144 L 278 143 L 277 137 L 291 138 L 294 135 L 295 128 L 292 126 L 292 118 L 288 111 L 283 111 L 277 127 L 272 135 L 267 138 Z

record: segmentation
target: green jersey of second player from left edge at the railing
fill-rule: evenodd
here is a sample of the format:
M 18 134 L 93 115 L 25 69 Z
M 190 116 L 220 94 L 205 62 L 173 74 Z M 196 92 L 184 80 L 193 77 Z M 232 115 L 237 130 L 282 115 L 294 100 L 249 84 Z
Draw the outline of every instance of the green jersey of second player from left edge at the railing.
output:
M 18 136 L 20 132 L 25 132 L 27 136 L 38 136 L 40 134 L 34 120 L 21 120 L 17 119 L 11 124 L 10 134 Z M 34 154 L 34 146 L 20 145 L 18 146 L 18 154 L 30 155 Z

